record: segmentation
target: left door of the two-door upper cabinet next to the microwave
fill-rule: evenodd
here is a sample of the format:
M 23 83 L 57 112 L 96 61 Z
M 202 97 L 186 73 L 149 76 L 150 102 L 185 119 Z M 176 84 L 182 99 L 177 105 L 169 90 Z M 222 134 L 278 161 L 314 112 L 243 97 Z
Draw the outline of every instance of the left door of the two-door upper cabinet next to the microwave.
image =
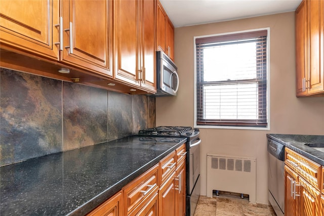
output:
M 139 1 L 114 1 L 115 71 L 119 80 L 140 85 L 138 67 Z

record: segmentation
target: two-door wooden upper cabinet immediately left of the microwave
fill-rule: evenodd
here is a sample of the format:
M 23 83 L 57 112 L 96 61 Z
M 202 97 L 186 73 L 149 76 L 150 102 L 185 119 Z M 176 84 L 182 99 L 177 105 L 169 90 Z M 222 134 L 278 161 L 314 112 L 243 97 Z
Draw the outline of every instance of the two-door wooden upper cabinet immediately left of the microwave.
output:
M 114 78 L 156 91 L 155 1 L 114 1 Z

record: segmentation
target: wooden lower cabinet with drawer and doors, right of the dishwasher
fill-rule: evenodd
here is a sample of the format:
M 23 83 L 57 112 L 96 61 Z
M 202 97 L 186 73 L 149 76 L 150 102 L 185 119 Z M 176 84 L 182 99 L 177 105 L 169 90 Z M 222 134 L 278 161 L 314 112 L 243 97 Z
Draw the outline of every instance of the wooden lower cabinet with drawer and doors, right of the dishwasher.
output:
M 286 148 L 285 216 L 323 216 L 321 166 Z

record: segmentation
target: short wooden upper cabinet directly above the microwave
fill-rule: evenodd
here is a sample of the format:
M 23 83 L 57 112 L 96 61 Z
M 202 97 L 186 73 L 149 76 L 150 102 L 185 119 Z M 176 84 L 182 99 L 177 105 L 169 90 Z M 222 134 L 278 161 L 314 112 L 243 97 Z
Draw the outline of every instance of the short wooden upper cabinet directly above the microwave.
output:
M 156 7 L 156 49 L 174 61 L 174 26 L 159 1 Z

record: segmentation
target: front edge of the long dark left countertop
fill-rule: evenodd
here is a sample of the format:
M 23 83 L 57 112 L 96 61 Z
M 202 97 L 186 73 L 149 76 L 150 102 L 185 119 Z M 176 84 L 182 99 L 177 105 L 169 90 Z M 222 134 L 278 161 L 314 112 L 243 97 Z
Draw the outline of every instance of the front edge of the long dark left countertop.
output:
M 151 160 L 148 163 L 146 163 L 144 166 L 139 167 L 138 170 L 136 170 L 132 174 L 128 175 L 123 180 L 120 180 L 119 182 L 117 182 L 112 187 L 104 190 L 102 193 L 100 193 L 97 196 L 93 197 L 91 200 L 89 200 L 88 202 L 84 203 L 83 205 L 77 207 L 76 209 L 74 209 L 73 211 L 71 211 L 70 213 L 68 213 L 66 215 L 69 215 L 69 216 L 86 215 L 87 213 L 89 213 L 90 211 L 92 211 L 93 209 L 95 209 L 97 206 L 99 206 L 100 204 L 102 204 L 104 201 L 106 201 L 107 199 L 109 199 L 110 197 L 112 197 L 115 193 L 117 193 L 118 191 L 120 191 L 121 189 L 123 189 L 123 187 L 125 187 L 127 184 L 129 184 L 130 182 L 132 182 L 133 180 L 135 180 L 137 177 L 139 177 L 140 175 L 142 175 L 145 171 L 147 171 L 148 169 L 150 169 L 151 167 L 153 167 L 161 159 L 163 159 L 164 157 L 166 157 L 172 151 L 176 150 L 178 147 L 180 147 L 185 142 L 186 142 L 185 139 L 182 140 L 181 142 L 179 142 L 178 144 L 176 144 L 175 146 L 173 146 L 169 150 L 165 151 L 163 154 L 160 154 L 159 156 L 157 156 L 153 160 Z

